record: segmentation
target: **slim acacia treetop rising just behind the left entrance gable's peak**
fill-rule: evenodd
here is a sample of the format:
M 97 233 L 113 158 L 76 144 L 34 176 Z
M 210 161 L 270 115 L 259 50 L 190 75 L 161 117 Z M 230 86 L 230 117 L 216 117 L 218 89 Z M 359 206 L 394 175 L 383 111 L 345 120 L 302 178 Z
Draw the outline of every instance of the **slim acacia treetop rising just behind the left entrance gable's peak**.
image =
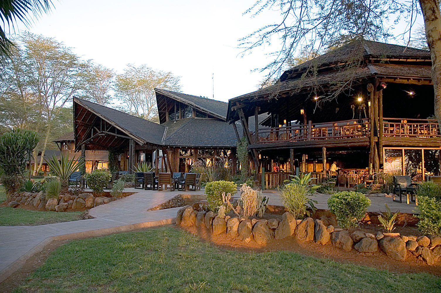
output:
M 103 106 L 108 105 L 112 99 L 109 91 L 114 77 L 115 72 L 112 69 L 90 63 L 84 77 L 84 98 Z

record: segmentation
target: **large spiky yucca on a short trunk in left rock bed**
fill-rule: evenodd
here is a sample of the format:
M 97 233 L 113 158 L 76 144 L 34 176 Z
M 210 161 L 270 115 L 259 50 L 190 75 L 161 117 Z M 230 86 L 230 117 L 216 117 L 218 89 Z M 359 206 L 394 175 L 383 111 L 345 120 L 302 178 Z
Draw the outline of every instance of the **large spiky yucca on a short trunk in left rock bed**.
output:
M 50 170 L 60 178 L 61 193 L 67 193 L 69 190 L 69 177 L 71 174 L 84 165 L 84 161 L 78 161 L 75 158 L 69 159 L 68 156 L 61 153 L 60 161 L 55 155 L 48 162 Z

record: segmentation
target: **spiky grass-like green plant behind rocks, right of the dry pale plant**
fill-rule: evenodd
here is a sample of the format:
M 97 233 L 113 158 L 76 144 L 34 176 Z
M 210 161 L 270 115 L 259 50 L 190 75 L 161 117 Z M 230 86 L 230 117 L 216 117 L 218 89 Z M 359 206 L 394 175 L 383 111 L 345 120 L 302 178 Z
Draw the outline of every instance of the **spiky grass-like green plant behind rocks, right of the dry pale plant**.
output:
M 306 213 L 309 187 L 301 184 L 286 184 L 280 189 L 282 204 L 295 218 Z

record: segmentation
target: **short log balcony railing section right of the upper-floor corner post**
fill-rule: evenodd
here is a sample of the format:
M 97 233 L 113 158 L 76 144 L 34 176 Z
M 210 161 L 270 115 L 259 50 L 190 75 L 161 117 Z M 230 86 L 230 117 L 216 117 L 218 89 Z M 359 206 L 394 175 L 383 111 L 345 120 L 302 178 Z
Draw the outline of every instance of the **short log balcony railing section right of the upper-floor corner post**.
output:
M 384 118 L 385 137 L 441 137 L 437 120 Z

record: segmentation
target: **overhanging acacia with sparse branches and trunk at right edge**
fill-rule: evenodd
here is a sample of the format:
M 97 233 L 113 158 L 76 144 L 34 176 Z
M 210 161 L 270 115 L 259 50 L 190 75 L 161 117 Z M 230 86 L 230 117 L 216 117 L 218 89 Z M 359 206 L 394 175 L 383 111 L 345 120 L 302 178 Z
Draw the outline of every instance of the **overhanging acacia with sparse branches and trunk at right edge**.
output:
M 277 76 L 302 49 L 314 56 L 349 40 L 387 40 L 400 22 L 407 22 L 403 35 L 412 41 L 412 28 L 422 13 L 432 58 L 435 116 L 441 123 L 441 15 L 437 0 L 258 0 L 245 14 L 255 16 L 269 9 L 280 11 L 279 21 L 239 40 L 244 52 L 280 40 L 273 61 L 262 68 L 269 72 L 268 78 Z M 353 57 L 350 66 L 359 64 L 360 56 Z

